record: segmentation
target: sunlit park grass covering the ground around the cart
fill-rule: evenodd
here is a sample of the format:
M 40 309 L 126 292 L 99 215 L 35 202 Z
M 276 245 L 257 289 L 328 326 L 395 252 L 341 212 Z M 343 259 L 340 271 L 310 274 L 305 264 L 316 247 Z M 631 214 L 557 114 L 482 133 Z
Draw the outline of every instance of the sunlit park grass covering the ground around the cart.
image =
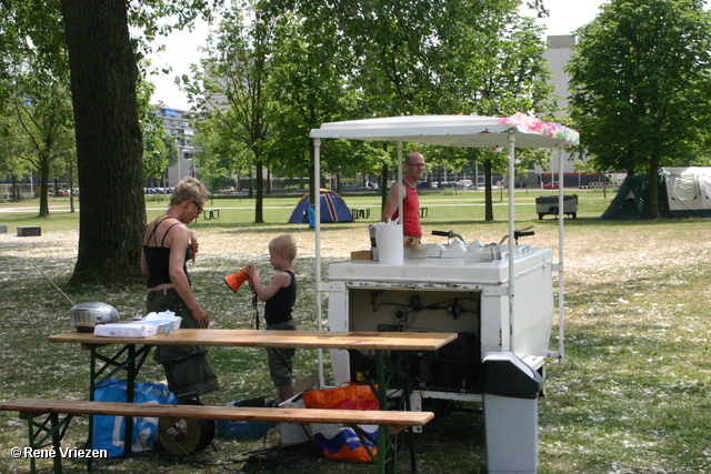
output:
M 565 362 L 548 364 L 547 396 L 539 400 L 539 472 L 553 473 L 711 473 L 711 354 L 709 345 L 709 281 L 711 279 L 711 220 L 600 221 L 612 194 L 578 192 L 578 219 L 565 219 Z M 534 199 L 541 192 L 517 193 L 518 229 L 535 225 L 525 240 L 557 252 L 554 219 L 539 220 Z M 550 194 L 543 193 L 543 194 Z M 508 232 L 505 195 L 494 199 L 494 222 L 483 222 L 483 194 L 424 194 L 424 241 L 432 230 L 454 230 L 469 242 L 499 241 Z M 348 259 L 350 251 L 369 248 L 367 225 L 379 214 L 378 196 L 347 196 L 352 208 L 371 208 L 371 219 L 329 224 L 322 230 L 327 265 Z M 297 322 L 316 327 L 313 231 L 287 224 L 298 198 L 268 199 L 266 224 L 253 225 L 253 201 L 214 200 L 219 220 L 191 226 L 199 232 L 198 262 L 189 264 L 198 300 L 213 327 L 249 329 L 253 314 L 248 292 L 227 291 L 222 275 L 248 262 L 268 268 L 268 241 L 283 232 L 299 243 L 296 271 L 300 290 Z M 167 206 L 148 202 L 153 219 Z M 78 209 L 81 209 L 79 203 Z M 33 266 L 60 288 L 77 258 L 79 213 L 69 203 L 51 203 L 51 215 L 38 219 L 34 201 L 0 204 L 0 399 L 24 396 L 86 399 L 88 353 L 76 346 L 50 345 L 46 337 L 71 330 L 70 303 Z M 79 211 L 80 212 L 80 211 Z M 41 225 L 39 238 L 17 238 L 18 225 Z M 554 253 L 557 254 L 557 253 Z M 141 282 L 107 291 L 84 288 L 68 293 L 76 302 L 104 301 L 132 316 L 144 307 Z M 557 346 L 553 339 L 552 346 Z M 273 397 L 266 357 L 258 349 L 211 350 L 222 390 L 204 402 L 223 404 L 253 396 Z M 314 376 L 316 351 L 299 351 L 297 376 Z M 161 382 L 162 370 L 152 361 L 141 379 Z M 63 446 L 80 445 L 86 420 L 74 420 Z M 267 446 L 278 443 L 277 431 Z M 11 447 L 27 445 L 27 426 L 13 413 L 0 413 L 0 472 L 22 473 L 29 461 L 13 458 Z M 97 472 L 218 473 L 238 471 L 241 453 L 263 447 L 262 442 L 218 441 L 201 463 L 151 452 L 130 460 L 100 461 Z M 485 455 L 481 416 L 440 413 L 418 435 L 418 467 L 425 474 L 483 473 Z M 39 465 L 50 472 L 51 460 Z M 408 472 L 407 450 L 398 472 Z M 64 472 L 84 471 L 81 462 L 64 462 Z M 282 465 L 273 472 L 283 472 Z M 293 473 L 370 473 L 370 465 L 303 460 L 288 467 Z M 252 472 L 267 472 L 266 467 Z

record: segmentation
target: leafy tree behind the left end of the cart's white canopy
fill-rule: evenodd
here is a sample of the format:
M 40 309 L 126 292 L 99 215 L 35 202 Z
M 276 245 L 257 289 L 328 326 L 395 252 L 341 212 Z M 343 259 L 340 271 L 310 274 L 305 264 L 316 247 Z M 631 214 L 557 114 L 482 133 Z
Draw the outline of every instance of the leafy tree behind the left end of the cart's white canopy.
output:
M 274 142 L 270 153 L 279 157 L 274 168 L 282 175 L 309 174 L 309 192 L 318 195 L 321 177 L 314 175 L 309 132 L 324 122 L 343 120 L 356 110 L 358 94 L 348 82 L 352 64 L 348 39 L 338 31 L 324 3 L 300 11 L 271 11 L 278 18 L 269 90 L 274 109 Z M 322 143 L 322 173 L 368 171 L 377 154 L 367 147 L 329 141 Z

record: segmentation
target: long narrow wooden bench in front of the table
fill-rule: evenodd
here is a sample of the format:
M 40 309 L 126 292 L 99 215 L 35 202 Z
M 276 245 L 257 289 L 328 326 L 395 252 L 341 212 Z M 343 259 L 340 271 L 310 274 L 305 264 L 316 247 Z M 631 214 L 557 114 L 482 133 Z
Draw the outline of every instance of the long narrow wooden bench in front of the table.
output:
M 60 444 L 67 426 L 74 415 L 110 416 L 154 416 L 194 420 L 262 421 L 288 423 L 336 423 L 348 425 L 387 426 L 391 433 L 398 433 L 409 426 L 424 426 L 434 414 L 431 412 L 400 411 L 360 411 L 360 410 L 313 410 L 313 409 L 272 409 L 249 406 L 206 406 L 206 405 L 157 405 L 146 403 L 87 402 L 74 400 L 19 399 L 0 402 L 0 410 L 20 412 L 28 421 L 30 450 L 43 446 L 58 453 L 54 458 L 54 473 L 62 472 Z M 59 414 L 67 415 L 59 420 Z M 34 418 L 47 415 L 39 423 Z M 100 453 L 99 453 L 100 454 Z M 384 453 L 383 453 L 384 454 Z M 97 455 L 97 453 L 94 453 Z M 30 472 L 36 472 L 34 456 L 30 457 Z M 379 456 L 380 457 L 380 456 Z M 384 457 L 384 456 L 383 456 Z M 91 471 L 91 456 L 87 456 Z M 384 464 L 377 463 L 378 472 L 384 472 Z

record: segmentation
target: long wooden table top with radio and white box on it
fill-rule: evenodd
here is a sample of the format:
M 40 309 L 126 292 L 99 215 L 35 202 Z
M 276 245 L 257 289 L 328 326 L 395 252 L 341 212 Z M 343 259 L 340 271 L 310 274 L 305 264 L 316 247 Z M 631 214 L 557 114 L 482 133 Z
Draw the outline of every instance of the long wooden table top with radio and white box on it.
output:
M 256 347 L 359 349 L 387 351 L 435 351 L 457 339 L 457 333 L 423 332 L 334 332 L 180 329 L 149 337 L 104 337 L 93 333 L 67 332 L 50 342 L 86 345 L 220 345 Z

